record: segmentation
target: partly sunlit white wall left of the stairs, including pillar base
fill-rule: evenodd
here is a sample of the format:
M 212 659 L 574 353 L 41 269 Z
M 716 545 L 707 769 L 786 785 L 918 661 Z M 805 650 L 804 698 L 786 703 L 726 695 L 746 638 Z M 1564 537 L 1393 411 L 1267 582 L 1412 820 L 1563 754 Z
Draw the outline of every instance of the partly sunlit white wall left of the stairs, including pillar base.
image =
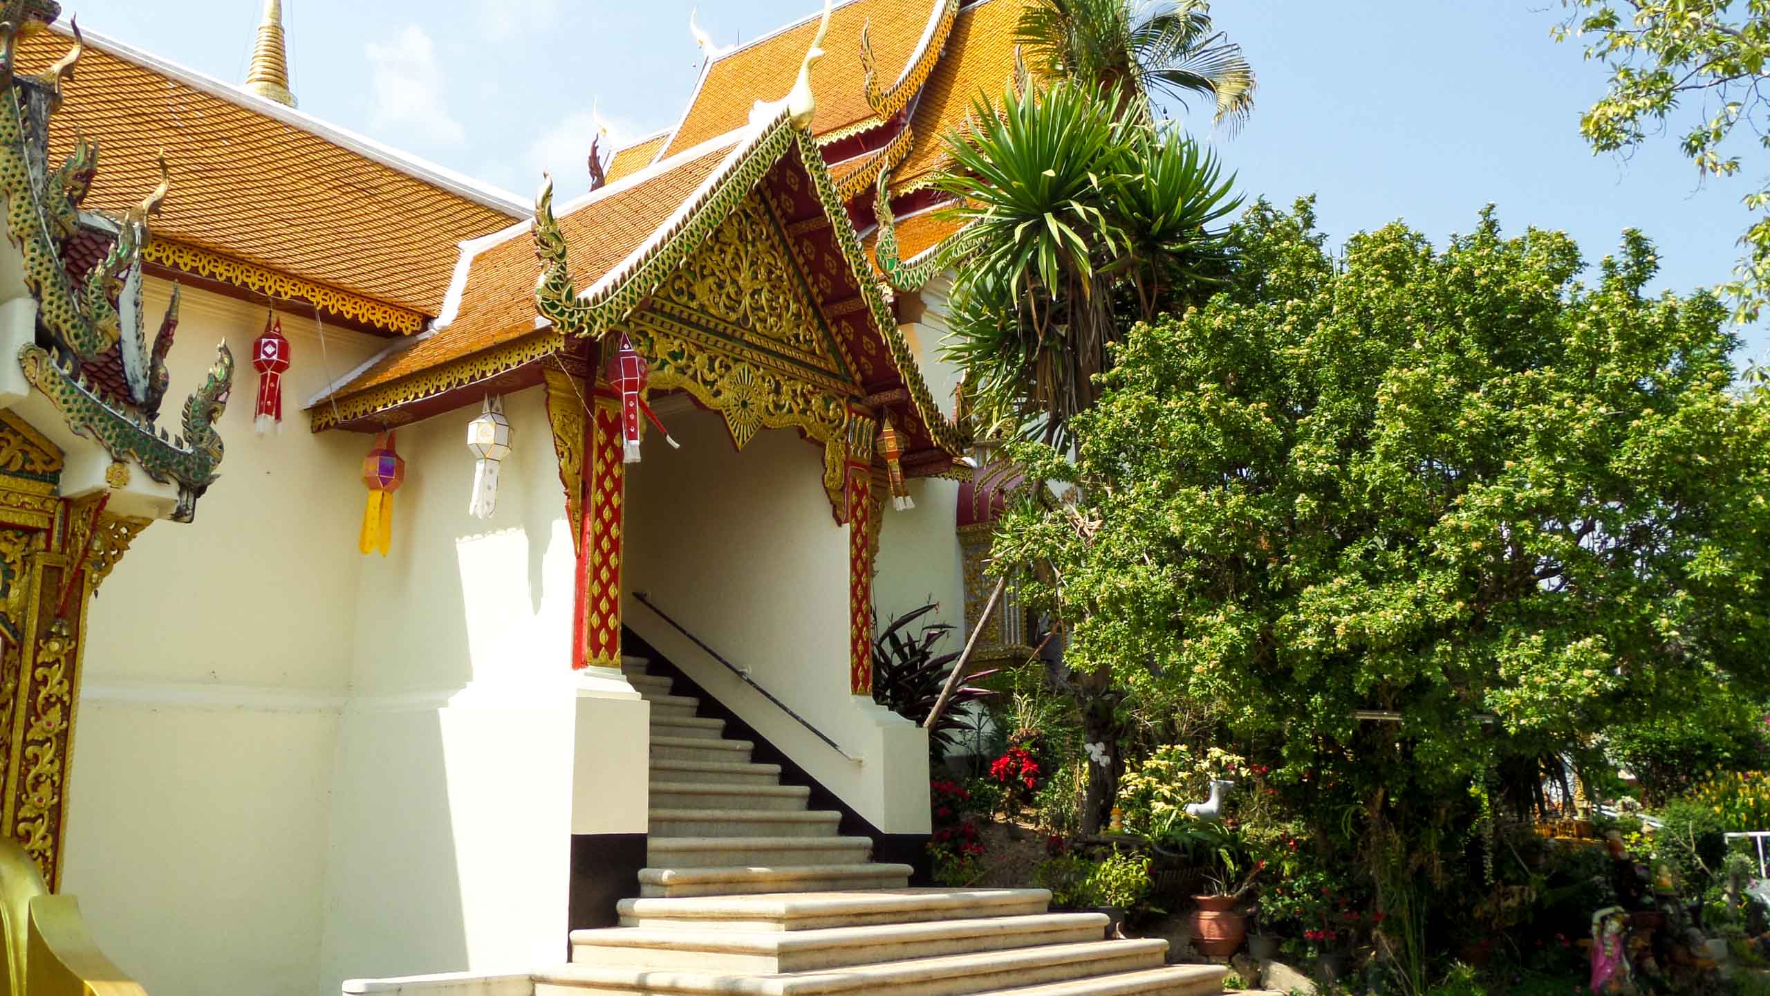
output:
M 322 992 L 559 961 L 570 835 L 646 829 L 650 705 L 570 672 L 575 553 L 543 392 L 504 413 L 489 521 L 467 514 L 478 408 L 398 432 L 393 549 L 359 558 Z

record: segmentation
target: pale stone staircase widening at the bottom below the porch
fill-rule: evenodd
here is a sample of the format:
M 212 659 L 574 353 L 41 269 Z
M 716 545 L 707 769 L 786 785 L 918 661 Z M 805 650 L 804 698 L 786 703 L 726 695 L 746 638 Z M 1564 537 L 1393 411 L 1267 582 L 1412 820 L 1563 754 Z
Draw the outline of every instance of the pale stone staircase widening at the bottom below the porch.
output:
M 754 764 L 699 700 L 628 661 L 651 702 L 651 844 L 621 927 L 573 930 L 535 996 L 1191 996 L 1216 966 L 1168 966 L 1166 941 L 1104 939 L 1099 913 L 1044 890 L 906 888 L 841 813 Z

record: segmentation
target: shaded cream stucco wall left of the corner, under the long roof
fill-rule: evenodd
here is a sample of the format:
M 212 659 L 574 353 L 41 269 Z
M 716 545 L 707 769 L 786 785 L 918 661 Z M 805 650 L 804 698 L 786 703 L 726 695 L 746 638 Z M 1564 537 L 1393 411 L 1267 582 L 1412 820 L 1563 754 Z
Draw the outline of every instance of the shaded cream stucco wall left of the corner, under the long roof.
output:
M 147 287 L 149 333 L 170 285 Z M 99 588 L 69 785 L 62 890 L 150 992 L 308 996 L 338 707 L 356 619 L 359 438 L 308 432 L 329 379 L 312 319 L 280 436 L 251 431 L 262 307 L 186 287 L 163 425 L 227 338 L 239 369 L 221 480 L 154 523 Z M 382 340 L 326 330 L 342 376 Z

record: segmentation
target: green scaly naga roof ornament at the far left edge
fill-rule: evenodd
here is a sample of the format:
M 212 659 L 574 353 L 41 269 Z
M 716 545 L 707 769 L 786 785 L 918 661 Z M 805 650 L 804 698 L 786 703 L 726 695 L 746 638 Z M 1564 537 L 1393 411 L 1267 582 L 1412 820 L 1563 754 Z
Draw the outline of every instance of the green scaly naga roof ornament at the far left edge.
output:
M 60 7 L 50 0 L 0 0 L 0 193 L 7 197 L 5 236 L 23 261 L 23 280 L 37 300 L 37 335 L 18 353 L 25 379 L 44 393 L 67 425 L 110 452 L 135 463 L 159 484 L 177 484 L 175 521 L 189 521 L 196 500 L 216 480 L 221 436 L 216 422 L 234 383 L 234 356 L 216 347 L 214 365 L 184 404 L 182 434 L 156 425 L 170 383 L 166 353 L 179 323 L 179 291 L 149 342 L 142 308 L 142 246 L 149 216 L 170 191 L 166 163 L 159 188 L 140 206 L 112 218 L 81 211 L 92 188 L 99 149 L 76 138 L 73 152 L 48 167 L 50 117 L 60 110 L 64 87 L 74 76 L 83 43 L 73 25 L 69 53 L 41 76 L 19 76 L 12 58 L 19 32 L 53 21 Z M 74 239 L 101 239 L 103 259 L 81 278 L 67 271 L 65 248 Z M 0 360 L 4 362 L 4 360 Z M 103 369 L 124 385 L 122 397 L 90 376 Z

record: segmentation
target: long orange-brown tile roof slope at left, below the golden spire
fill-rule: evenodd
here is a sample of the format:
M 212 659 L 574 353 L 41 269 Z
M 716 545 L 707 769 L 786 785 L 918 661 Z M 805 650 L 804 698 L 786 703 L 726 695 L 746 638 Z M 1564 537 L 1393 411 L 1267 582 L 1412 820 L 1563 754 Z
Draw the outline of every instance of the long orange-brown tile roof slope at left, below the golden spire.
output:
M 19 71 L 42 71 L 69 44 L 58 32 L 25 39 Z M 442 305 L 457 243 L 520 216 L 471 181 L 421 179 L 430 168 L 386 165 L 391 151 L 370 156 L 297 112 L 214 89 L 230 90 L 88 35 L 53 119 L 51 163 L 76 128 L 96 138 L 85 207 L 122 213 L 159 183 L 165 151 L 172 193 L 150 222 L 156 236 L 427 315 Z

